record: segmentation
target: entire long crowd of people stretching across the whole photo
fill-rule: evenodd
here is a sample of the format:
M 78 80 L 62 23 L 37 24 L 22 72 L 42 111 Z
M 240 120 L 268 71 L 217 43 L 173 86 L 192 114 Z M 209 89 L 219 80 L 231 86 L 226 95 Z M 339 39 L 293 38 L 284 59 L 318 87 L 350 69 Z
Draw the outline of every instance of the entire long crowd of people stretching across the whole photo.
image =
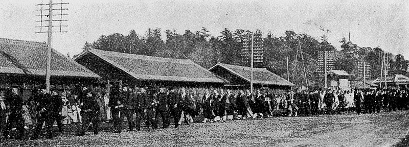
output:
M 106 90 L 101 86 L 83 86 L 80 90 L 51 90 L 41 86 L 31 92 L 28 100 L 21 97 L 20 87 L 0 89 L 0 133 L 4 138 L 21 138 L 31 130 L 39 138 L 41 130 L 53 137 L 53 126 L 63 132 L 64 125 L 74 125 L 77 135 L 92 128 L 95 135 L 101 123 L 111 122 L 112 132 L 121 133 L 126 118 L 129 131 L 140 131 L 141 122 L 147 130 L 175 128 L 192 122 L 225 122 L 232 119 L 255 119 L 280 114 L 308 116 L 348 111 L 376 113 L 408 109 L 408 90 L 351 89 L 348 91 L 316 89 L 313 91 L 274 93 L 267 89 L 224 90 L 206 89 L 200 95 L 185 88 L 137 87 L 122 84 Z M 283 111 L 277 111 L 283 110 Z M 282 113 L 280 113 L 282 112 Z M 10 135 L 16 128 L 18 135 Z M 26 135 L 27 136 L 27 135 Z

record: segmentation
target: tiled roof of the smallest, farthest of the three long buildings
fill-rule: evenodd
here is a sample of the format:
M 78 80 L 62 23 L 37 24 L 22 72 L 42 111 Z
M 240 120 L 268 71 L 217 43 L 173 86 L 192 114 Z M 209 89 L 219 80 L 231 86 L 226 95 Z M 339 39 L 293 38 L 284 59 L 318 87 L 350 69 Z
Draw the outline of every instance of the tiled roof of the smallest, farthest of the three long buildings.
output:
M 232 74 L 242 78 L 243 80 L 250 82 L 251 80 L 251 68 L 245 66 L 237 66 L 230 64 L 218 63 L 209 71 L 212 71 L 213 68 L 220 66 L 232 72 Z M 276 74 L 268 71 L 265 68 L 253 68 L 253 82 L 255 84 L 265 84 L 265 85 L 281 85 L 281 86 L 296 86 L 291 82 L 277 76 Z

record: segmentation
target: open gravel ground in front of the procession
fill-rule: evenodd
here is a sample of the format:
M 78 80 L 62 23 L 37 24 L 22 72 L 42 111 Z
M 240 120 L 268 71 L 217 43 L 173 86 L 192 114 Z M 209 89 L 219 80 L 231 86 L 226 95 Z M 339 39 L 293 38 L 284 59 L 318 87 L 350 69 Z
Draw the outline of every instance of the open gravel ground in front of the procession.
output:
M 74 136 L 75 129 L 39 140 L 6 140 L 0 146 L 408 146 L 409 111 L 273 117 L 194 123 L 179 128 Z M 124 125 L 125 126 L 125 125 Z M 173 126 L 172 126 L 173 127 Z M 407 136 L 408 135 L 408 136 Z

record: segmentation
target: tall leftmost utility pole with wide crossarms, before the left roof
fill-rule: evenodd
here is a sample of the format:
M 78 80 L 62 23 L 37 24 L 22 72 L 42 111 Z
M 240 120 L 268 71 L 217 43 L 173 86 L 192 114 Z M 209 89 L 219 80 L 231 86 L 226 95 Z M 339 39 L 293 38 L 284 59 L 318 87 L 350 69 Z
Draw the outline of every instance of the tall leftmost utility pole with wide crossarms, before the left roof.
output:
M 69 3 L 63 3 L 61 0 L 61 3 L 53 3 L 53 0 L 50 0 L 49 4 L 43 4 L 41 1 L 41 4 L 37 4 L 36 6 L 41 6 L 41 9 L 37 10 L 37 11 L 41 11 L 40 15 L 36 15 L 36 16 L 40 16 L 40 20 L 36 21 L 36 22 L 40 22 L 40 26 L 36 26 L 34 28 L 40 28 L 39 32 L 35 32 L 35 33 L 48 33 L 48 38 L 47 38 L 47 66 L 46 66 L 46 86 L 47 86 L 47 92 L 50 92 L 50 77 L 51 77 L 51 50 L 52 50 L 52 36 L 53 36 L 53 27 L 60 27 L 59 31 L 56 32 L 62 32 L 65 33 L 66 31 L 62 31 L 62 27 L 68 27 L 66 25 L 62 25 L 62 21 L 68 21 L 68 20 L 64 20 L 62 19 L 62 16 L 64 15 L 68 15 L 68 14 L 63 14 L 62 10 L 68 10 L 66 8 L 62 8 L 64 4 L 69 4 Z M 43 9 L 43 6 L 45 5 L 49 5 L 49 9 Z M 61 5 L 60 9 L 53 9 L 53 5 Z M 43 14 L 43 11 L 48 10 L 49 13 L 48 14 Z M 53 14 L 53 10 L 60 10 L 60 14 Z M 55 15 L 59 15 L 60 19 L 59 20 L 53 20 L 53 16 Z M 48 20 L 43 20 L 43 16 L 47 16 Z M 45 19 L 45 18 L 44 18 Z M 42 22 L 46 22 L 48 21 L 48 26 L 42 26 Z M 53 26 L 53 21 L 60 21 L 60 25 L 59 26 Z M 48 27 L 48 31 L 42 31 L 43 27 Z

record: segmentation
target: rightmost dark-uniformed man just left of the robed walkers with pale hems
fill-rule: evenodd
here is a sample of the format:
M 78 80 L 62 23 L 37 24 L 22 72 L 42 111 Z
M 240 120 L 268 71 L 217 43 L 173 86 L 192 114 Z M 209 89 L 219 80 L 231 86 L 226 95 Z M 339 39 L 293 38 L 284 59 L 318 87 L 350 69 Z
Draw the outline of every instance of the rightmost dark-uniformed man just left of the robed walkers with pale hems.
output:
M 169 112 L 171 116 L 173 116 L 174 123 L 175 123 L 175 128 L 179 126 L 179 119 L 181 115 L 181 110 L 180 110 L 180 95 L 175 91 L 173 87 L 169 88 L 170 92 L 168 95 L 168 106 L 169 106 Z M 179 107 L 177 107 L 179 105 Z

